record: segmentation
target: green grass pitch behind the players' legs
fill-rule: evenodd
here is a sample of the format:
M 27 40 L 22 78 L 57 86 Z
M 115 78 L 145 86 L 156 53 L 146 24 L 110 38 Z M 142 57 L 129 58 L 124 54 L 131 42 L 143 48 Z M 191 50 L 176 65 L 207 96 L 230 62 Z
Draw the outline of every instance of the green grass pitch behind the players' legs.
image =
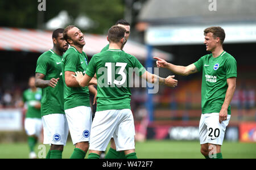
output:
M 74 146 L 71 142 L 64 147 L 63 158 L 69 158 Z M 46 145 L 46 151 L 49 146 Z M 38 153 L 38 147 L 35 151 Z M 223 158 L 256 158 L 256 143 L 225 142 L 221 147 Z M 136 142 L 138 158 L 204 158 L 200 153 L 199 141 L 146 141 Z M 86 155 L 86 157 L 88 154 Z M 27 143 L 0 143 L 0 158 L 28 158 Z

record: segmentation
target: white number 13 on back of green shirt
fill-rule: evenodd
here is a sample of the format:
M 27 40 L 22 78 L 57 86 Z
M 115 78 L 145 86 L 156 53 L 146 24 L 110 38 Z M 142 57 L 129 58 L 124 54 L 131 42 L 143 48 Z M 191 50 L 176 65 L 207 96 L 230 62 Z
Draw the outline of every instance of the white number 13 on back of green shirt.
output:
M 123 83 L 125 83 L 126 73 L 124 72 L 124 70 L 125 70 L 126 65 L 127 65 L 127 63 L 124 63 L 124 62 L 115 63 L 115 66 L 121 67 L 117 74 L 122 76 L 122 80 L 118 81 L 118 80 L 114 79 L 114 82 L 113 82 L 114 84 L 122 85 Z M 107 69 L 108 69 L 108 84 L 110 85 L 110 84 L 112 84 L 112 62 L 106 62 L 105 67 L 107 67 Z

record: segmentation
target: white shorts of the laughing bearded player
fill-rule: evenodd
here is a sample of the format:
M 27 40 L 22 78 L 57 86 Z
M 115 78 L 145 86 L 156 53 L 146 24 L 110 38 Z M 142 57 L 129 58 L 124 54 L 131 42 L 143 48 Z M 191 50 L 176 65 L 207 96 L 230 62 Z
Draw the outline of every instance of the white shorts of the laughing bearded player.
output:
M 65 110 L 73 145 L 78 142 L 89 142 L 92 126 L 92 109 L 80 106 Z

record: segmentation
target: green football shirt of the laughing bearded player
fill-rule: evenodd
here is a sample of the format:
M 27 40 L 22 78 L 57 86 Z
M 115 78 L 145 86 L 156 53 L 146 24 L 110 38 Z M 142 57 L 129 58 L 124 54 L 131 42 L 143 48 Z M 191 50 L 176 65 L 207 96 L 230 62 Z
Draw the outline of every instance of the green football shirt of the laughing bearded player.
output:
M 64 82 L 64 109 L 71 109 L 79 106 L 90 107 L 88 87 L 68 87 L 65 84 L 65 71 L 81 71 L 85 73 L 88 66 L 88 57 L 84 52 L 80 53 L 71 46 L 63 55 L 63 82 Z

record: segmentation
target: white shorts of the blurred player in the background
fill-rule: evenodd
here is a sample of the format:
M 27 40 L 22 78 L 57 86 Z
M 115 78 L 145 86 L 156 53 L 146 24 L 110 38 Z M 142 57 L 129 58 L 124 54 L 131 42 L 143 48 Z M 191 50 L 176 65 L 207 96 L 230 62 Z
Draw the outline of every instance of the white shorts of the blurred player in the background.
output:
M 42 128 L 42 118 L 25 118 L 24 129 L 28 136 L 35 135 L 36 137 L 39 137 Z

